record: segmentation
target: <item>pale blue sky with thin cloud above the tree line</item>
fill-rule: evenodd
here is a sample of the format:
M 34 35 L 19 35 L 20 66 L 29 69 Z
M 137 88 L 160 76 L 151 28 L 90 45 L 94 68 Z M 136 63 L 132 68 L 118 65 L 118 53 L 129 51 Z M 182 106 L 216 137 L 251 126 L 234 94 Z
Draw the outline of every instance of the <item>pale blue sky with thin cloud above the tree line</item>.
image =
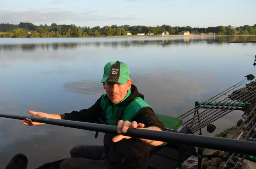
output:
M 255 0 L 0 0 L 0 23 L 244 26 L 256 24 L 255 7 Z

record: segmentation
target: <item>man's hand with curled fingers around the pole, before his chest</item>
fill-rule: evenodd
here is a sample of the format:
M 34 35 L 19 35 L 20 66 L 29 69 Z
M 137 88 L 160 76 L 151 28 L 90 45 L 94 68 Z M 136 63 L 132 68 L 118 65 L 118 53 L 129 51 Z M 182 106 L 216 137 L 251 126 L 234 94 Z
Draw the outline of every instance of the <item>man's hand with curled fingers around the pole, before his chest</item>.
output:
M 121 133 L 126 133 L 128 128 L 143 128 L 143 127 L 145 127 L 145 124 L 143 124 L 143 123 L 138 124 L 136 121 L 133 121 L 133 122 L 125 121 L 124 122 L 123 120 L 119 120 L 117 123 L 117 132 L 119 134 L 121 134 Z M 117 142 L 117 141 L 122 140 L 123 138 L 129 139 L 131 137 L 124 136 L 124 135 L 117 135 L 112 140 L 113 140 L 113 142 Z

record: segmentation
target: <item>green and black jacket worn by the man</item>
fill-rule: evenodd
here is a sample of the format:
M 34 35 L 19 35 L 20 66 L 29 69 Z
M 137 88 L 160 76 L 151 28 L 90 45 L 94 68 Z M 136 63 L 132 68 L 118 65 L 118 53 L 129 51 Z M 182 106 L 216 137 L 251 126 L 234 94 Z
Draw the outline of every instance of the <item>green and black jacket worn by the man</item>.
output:
M 144 101 L 144 95 L 132 85 L 123 101 L 113 104 L 106 94 L 88 109 L 72 111 L 61 115 L 62 119 L 117 125 L 123 121 L 136 121 L 145 127 L 156 126 L 166 131 L 164 124 L 155 115 L 154 110 Z M 114 143 L 114 134 L 105 134 L 104 146 L 107 160 L 117 168 L 144 169 L 148 165 L 150 145 L 138 138 L 123 139 Z

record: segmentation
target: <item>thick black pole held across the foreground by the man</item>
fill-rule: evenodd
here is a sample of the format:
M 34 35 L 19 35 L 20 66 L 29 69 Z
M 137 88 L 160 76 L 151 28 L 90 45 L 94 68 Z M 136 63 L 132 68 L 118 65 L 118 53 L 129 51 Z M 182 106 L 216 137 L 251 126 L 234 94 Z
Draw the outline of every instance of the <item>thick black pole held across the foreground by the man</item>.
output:
M 32 119 L 36 122 L 78 128 L 89 131 L 98 131 L 111 134 L 117 133 L 117 126 L 114 125 L 105 125 L 105 124 L 96 124 L 89 122 L 78 122 L 72 120 L 64 119 L 49 119 L 45 117 L 31 117 L 23 115 L 9 115 L 9 114 L 0 114 L 0 117 L 10 118 L 10 119 L 20 119 L 24 120 L 26 118 Z M 233 140 L 227 138 L 219 137 L 210 137 L 210 136 L 200 136 L 194 134 L 184 134 L 184 133 L 175 133 L 168 131 L 154 131 L 154 130 L 145 130 L 145 129 L 134 129 L 129 128 L 126 133 L 122 135 L 157 140 L 169 143 L 184 144 L 195 147 L 203 147 L 208 149 L 217 149 L 223 151 L 230 151 L 248 155 L 256 155 L 256 142 L 248 142 L 245 140 Z

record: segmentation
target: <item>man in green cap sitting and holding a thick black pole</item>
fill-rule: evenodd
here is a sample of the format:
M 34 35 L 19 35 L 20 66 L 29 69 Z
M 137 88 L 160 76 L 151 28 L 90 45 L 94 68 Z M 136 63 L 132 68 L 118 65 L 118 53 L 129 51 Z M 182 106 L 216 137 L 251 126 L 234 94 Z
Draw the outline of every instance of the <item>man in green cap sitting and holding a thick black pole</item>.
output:
M 98 169 L 98 168 L 134 168 L 146 169 L 150 146 L 166 143 L 155 140 L 127 137 L 121 135 L 128 128 L 166 131 L 164 124 L 155 115 L 154 110 L 144 101 L 130 79 L 130 71 L 123 62 L 109 62 L 104 67 L 101 80 L 106 94 L 92 107 L 65 114 L 47 114 L 29 111 L 30 114 L 82 122 L 117 125 L 115 134 L 105 134 L 104 146 L 75 146 L 70 151 L 71 158 L 66 158 L 61 169 Z M 24 125 L 42 125 L 31 119 L 23 120 Z

